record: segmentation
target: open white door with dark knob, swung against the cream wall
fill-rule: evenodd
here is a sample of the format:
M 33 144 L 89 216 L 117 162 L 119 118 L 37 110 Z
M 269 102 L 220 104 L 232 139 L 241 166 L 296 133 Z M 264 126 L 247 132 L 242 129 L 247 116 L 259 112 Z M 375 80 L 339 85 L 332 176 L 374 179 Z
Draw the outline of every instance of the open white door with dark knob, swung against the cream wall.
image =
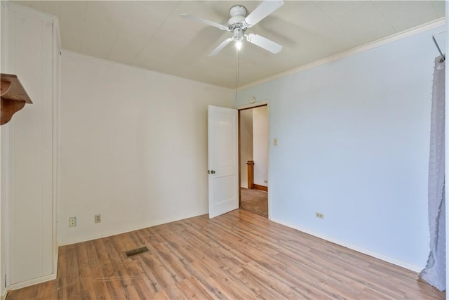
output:
M 237 110 L 208 106 L 209 218 L 239 208 Z

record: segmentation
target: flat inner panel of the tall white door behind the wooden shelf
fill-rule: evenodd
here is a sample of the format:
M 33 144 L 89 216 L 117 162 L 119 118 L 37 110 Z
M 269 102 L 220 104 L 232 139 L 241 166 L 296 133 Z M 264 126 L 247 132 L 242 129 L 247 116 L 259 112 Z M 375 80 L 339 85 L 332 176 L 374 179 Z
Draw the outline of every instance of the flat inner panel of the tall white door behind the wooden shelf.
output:
M 41 275 L 42 256 L 41 26 L 39 19 L 18 13 L 13 14 L 13 26 L 14 72 L 33 104 L 24 107 L 11 120 L 14 129 L 11 283 Z

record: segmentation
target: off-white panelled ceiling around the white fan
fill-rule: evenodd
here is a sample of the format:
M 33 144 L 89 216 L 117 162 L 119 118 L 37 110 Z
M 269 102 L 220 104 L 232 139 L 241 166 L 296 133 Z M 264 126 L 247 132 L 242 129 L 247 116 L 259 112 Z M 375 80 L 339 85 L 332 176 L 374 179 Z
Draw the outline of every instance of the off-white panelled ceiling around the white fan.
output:
M 180 18 L 188 13 L 226 24 L 236 4 L 261 1 L 20 1 L 56 15 L 62 48 L 230 88 L 236 50 L 215 27 Z M 368 44 L 444 17 L 444 1 L 286 1 L 249 32 L 283 45 L 278 54 L 248 42 L 239 53 L 239 86 Z

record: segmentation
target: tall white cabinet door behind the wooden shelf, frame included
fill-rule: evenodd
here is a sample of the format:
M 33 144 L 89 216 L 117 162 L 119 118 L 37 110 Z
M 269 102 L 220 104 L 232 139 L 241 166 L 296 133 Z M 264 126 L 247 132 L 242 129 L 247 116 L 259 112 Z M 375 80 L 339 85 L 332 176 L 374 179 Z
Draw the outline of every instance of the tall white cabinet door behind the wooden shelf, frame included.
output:
M 8 66 L 33 104 L 8 123 L 10 284 L 53 275 L 53 19 L 8 7 Z M 24 283 L 22 283 L 24 284 Z M 25 283 L 25 285 L 27 285 Z

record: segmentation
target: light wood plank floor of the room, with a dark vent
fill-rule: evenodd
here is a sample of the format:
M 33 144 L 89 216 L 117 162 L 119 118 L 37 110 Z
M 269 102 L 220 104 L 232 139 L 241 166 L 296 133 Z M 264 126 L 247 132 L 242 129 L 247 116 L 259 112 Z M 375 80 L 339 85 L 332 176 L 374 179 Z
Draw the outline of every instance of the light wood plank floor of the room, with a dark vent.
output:
M 445 299 L 410 270 L 241 209 L 60 247 L 58 268 L 7 299 Z

